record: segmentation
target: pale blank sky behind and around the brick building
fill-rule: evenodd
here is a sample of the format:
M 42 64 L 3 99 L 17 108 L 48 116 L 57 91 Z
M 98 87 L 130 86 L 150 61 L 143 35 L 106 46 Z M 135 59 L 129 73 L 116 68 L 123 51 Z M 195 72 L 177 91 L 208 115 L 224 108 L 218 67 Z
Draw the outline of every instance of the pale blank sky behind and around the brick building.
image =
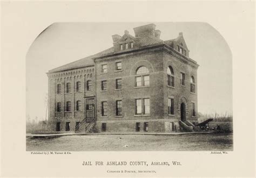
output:
M 134 35 L 134 27 L 149 23 L 162 40 L 183 32 L 190 58 L 199 64 L 198 112 L 232 113 L 232 54 L 221 34 L 207 23 L 148 22 L 53 23 L 39 31 L 26 54 L 26 115 L 45 118 L 48 70 L 112 47 L 113 34 Z

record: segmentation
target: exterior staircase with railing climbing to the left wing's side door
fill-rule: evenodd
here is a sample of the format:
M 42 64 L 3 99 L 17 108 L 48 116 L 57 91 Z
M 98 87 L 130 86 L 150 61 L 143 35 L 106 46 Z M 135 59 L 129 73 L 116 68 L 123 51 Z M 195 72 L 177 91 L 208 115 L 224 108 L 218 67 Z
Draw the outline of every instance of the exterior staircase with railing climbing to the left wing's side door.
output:
M 95 118 L 84 118 L 82 122 L 80 122 L 76 126 L 76 133 L 90 133 L 95 127 L 96 122 Z

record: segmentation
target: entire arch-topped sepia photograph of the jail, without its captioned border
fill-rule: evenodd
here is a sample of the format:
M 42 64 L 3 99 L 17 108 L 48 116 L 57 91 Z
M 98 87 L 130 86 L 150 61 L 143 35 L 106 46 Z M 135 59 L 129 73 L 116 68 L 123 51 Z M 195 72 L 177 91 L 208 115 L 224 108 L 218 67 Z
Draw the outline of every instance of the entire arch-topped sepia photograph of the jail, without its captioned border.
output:
M 53 23 L 26 54 L 26 151 L 233 151 L 232 112 L 211 24 Z

